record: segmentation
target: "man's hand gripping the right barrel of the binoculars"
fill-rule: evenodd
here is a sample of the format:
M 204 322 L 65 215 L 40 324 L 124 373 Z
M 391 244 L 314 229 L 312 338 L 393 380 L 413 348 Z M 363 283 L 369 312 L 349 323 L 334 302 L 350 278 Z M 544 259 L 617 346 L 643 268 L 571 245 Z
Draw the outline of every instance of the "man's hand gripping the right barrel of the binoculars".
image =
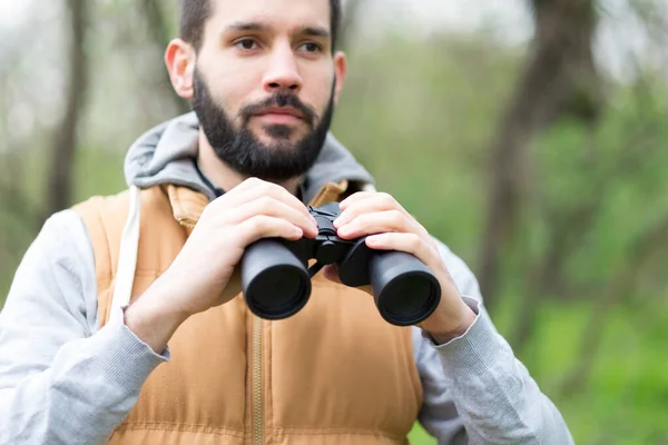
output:
M 343 239 L 367 236 L 366 245 L 376 250 L 400 250 L 414 255 L 429 267 L 441 285 L 441 303 L 419 326 L 439 344 L 465 333 L 475 313 L 462 300 L 450 276 L 439 247 L 415 218 L 385 192 L 361 191 L 341 202 L 341 215 L 334 221 Z M 328 279 L 340 281 L 333 267 L 325 268 Z M 372 294 L 371 286 L 364 290 Z

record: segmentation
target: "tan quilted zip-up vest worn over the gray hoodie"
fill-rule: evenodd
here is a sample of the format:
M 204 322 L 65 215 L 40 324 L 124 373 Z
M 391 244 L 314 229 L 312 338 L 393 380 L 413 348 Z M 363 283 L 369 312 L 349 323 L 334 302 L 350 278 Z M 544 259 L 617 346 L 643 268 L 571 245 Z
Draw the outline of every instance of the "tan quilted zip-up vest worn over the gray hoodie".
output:
M 330 184 L 311 204 L 344 189 Z M 75 207 L 95 250 L 100 326 L 128 195 Z M 183 187 L 141 191 L 132 299 L 170 265 L 207 204 Z M 320 274 L 297 315 L 261 320 L 239 295 L 188 319 L 169 349 L 171 360 L 148 377 L 110 444 L 402 444 L 422 403 L 410 328 L 387 324 L 366 294 Z

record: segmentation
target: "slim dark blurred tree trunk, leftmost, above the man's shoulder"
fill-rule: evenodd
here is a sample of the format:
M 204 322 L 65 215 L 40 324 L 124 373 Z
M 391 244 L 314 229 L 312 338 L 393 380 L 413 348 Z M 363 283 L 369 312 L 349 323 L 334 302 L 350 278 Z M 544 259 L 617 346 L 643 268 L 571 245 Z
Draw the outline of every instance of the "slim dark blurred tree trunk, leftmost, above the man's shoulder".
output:
M 47 184 L 47 215 L 71 205 L 77 130 L 88 90 L 86 43 L 86 0 L 68 0 L 71 24 L 69 43 L 69 81 L 67 105 L 60 128 L 55 136 L 52 161 Z

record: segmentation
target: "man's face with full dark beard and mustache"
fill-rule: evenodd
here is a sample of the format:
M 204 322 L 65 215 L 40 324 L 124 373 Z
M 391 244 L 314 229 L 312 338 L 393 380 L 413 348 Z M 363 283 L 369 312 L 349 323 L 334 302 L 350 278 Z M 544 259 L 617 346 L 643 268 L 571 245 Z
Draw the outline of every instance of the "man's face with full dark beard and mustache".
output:
M 193 107 L 218 157 L 267 180 L 315 161 L 335 102 L 330 0 L 213 0 Z

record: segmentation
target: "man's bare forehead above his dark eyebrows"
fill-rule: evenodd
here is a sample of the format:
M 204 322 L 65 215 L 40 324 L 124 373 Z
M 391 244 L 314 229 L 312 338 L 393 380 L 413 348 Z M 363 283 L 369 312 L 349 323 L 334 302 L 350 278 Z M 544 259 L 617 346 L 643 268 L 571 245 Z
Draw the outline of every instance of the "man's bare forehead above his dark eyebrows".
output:
M 263 22 L 276 29 L 318 26 L 330 29 L 330 0 L 212 0 L 210 22 Z

